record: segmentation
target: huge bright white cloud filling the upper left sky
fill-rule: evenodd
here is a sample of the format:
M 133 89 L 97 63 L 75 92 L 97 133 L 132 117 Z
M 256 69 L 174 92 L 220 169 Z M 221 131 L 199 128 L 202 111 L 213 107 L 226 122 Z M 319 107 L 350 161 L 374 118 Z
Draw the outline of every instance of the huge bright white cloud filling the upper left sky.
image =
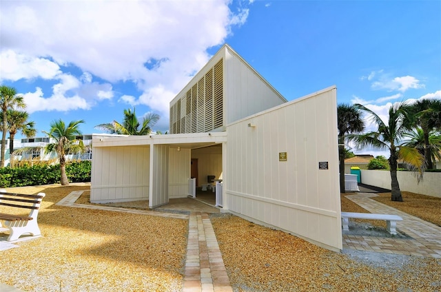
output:
M 92 76 L 110 82 L 132 81 L 144 92 L 132 102 L 168 116 L 174 94 L 189 81 L 189 74 L 208 61 L 207 49 L 222 44 L 232 25 L 245 23 L 247 4 L 232 12 L 230 3 L 4 1 L 0 10 L 1 54 L 16 61 L 3 65 L 2 60 L 1 76 L 12 81 L 34 77 L 59 80 L 66 78 L 60 77 L 60 66 L 74 66 L 84 72 L 78 76 L 79 87 L 92 83 Z M 161 62 L 154 68 L 145 65 L 157 60 Z M 74 90 L 71 82 L 73 79 L 62 80 L 54 90 L 59 94 Z M 98 97 L 111 98 L 108 88 L 105 92 Z M 92 105 L 91 98 L 81 98 Z

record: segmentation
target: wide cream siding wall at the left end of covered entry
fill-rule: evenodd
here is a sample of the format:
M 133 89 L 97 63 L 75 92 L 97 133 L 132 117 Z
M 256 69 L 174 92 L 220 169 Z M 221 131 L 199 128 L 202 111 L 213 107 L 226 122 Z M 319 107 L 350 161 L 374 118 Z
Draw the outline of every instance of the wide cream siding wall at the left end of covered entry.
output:
M 150 147 L 94 147 L 91 202 L 124 202 L 149 197 Z

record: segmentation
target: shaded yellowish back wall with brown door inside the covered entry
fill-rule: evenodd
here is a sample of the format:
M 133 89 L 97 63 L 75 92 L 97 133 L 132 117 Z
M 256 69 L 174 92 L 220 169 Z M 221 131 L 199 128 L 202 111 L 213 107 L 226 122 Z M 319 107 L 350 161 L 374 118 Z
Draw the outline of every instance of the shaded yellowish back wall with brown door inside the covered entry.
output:
M 207 183 L 207 176 L 222 178 L 222 145 L 192 150 L 192 158 L 198 159 L 199 186 Z

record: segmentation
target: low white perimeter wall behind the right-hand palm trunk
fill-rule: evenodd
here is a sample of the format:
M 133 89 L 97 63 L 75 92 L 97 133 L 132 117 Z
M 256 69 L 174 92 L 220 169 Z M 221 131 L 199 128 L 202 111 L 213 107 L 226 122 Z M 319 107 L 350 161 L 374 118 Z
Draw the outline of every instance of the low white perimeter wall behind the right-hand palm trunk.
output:
M 411 171 L 397 171 L 397 178 L 402 191 L 441 198 L 440 172 L 424 172 L 424 178 L 419 184 Z M 361 182 L 366 185 L 391 189 L 391 173 L 384 170 L 362 169 Z

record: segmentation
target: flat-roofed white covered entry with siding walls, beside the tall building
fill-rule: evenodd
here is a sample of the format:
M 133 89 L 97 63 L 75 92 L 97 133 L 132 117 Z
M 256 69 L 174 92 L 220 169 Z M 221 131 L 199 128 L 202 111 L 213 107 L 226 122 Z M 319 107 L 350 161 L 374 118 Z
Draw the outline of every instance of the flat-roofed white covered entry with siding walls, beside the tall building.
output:
M 226 132 L 94 138 L 90 200 L 145 200 L 153 209 L 186 198 L 192 155 L 202 163 L 199 180 L 205 183 L 212 172 L 222 176 L 226 141 Z

